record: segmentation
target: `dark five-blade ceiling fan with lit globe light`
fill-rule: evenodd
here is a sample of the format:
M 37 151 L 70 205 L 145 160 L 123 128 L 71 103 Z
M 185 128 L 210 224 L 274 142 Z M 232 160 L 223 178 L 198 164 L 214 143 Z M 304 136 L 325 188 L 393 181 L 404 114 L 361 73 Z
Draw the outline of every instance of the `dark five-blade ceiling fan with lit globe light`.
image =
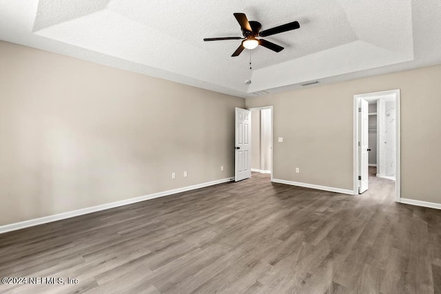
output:
M 220 40 L 243 40 L 240 46 L 234 51 L 233 57 L 238 56 L 242 51 L 247 48 L 252 50 L 256 48 L 258 45 L 261 45 L 269 50 L 273 50 L 275 52 L 280 52 L 283 50 L 282 46 L 274 44 L 270 41 L 266 41 L 264 39 L 257 39 L 257 36 L 271 36 L 273 34 L 278 34 L 280 32 L 287 32 L 289 30 L 296 30 L 300 28 L 300 24 L 298 21 L 293 21 L 291 23 L 285 23 L 284 25 L 278 25 L 274 28 L 270 28 L 268 30 L 263 30 L 260 32 L 260 28 L 262 25 L 258 21 L 248 21 L 245 13 L 234 13 L 234 17 L 238 21 L 240 25 L 240 29 L 242 30 L 241 36 L 225 36 L 220 38 L 205 38 L 204 41 L 220 41 Z

